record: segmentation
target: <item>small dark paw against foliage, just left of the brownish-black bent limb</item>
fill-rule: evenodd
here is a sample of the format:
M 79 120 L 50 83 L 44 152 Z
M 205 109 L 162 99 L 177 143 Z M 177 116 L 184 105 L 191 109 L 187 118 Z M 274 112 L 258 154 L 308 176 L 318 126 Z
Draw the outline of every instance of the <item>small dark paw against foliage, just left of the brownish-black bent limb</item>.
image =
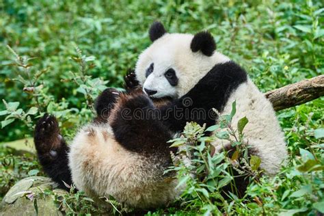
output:
M 97 116 L 107 120 L 110 116 L 110 112 L 113 109 L 117 99 L 120 97 L 120 93 L 113 87 L 108 87 L 96 98 L 94 108 L 96 109 Z

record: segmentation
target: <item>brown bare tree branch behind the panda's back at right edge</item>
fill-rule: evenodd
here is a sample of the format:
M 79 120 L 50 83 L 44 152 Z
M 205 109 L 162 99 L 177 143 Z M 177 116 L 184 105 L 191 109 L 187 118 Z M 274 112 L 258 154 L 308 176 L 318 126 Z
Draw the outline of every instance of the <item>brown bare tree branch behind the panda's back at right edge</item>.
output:
M 324 96 L 324 75 L 271 90 L 265 96 L 275 111 L 301 105 Z

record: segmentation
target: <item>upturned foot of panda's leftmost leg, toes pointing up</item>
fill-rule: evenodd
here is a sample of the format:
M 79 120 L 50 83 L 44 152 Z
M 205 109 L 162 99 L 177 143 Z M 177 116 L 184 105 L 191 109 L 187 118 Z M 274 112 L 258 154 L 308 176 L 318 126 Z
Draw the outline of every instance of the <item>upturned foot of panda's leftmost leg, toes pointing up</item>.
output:
M 59 124 L 54 116 L 45 114 L 38 120 L 35 127 L 34 142 L 38 154 L 51 153 L 61 147 L 63 141 L 59 134 Z

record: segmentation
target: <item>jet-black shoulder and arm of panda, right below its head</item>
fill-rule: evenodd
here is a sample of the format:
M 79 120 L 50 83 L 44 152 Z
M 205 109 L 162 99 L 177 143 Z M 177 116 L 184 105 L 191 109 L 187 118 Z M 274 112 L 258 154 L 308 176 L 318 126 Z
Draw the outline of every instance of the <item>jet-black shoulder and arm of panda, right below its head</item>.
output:
M 217 64 L 187 94 L 174 100 L 172 105 L 162 107 L 163 122 L 173 132 L 183 131 L 186 122 L 191 121 L 211 126 L 217 119 L 213 108 L 223 111 L 232 91 L 245 81 L 247 74 L 239 65 L 234 62 Z M 180 110 L 190 115 L 179 116 Z M 205 118 L 192 115 L 195 110 L 204 110 Z

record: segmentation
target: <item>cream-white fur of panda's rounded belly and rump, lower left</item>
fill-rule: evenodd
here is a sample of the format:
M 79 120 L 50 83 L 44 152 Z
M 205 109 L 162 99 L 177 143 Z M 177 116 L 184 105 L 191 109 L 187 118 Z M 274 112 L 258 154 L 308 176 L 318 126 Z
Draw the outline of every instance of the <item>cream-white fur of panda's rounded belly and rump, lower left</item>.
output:
M 161 206 L 180 193 L 177 180 L 162 178 L 157 159 L 125 150 L 108 124 L 85 126 L 70 146 L 69 165 L 77 189 L 94 198 L 113 195 L 137 208 Z

